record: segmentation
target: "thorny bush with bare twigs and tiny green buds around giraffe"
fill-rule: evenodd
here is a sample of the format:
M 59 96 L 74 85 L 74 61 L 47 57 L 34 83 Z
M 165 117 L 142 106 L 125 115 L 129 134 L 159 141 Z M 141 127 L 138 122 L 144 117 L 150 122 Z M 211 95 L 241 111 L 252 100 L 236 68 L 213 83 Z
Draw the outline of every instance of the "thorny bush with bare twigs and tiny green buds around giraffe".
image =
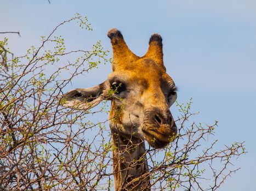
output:
M 98 111 L 60 106 L 63 90 L 73 79 L 100 63 L 111 62 L 100 41 L 92 51 L 66 50 L 64 39 L 54 34 L 71 21 L 91 30 L 86 17 L 77 14 L 56 26 L 48 37 L 42 37 L 38 48 L 31 46 L 25 56 L 10 60 L 4 51 L 8 50 L 8 40 L 0 42 L 0 53 L 4 54 L 0 65 L 1 190 L 113 187 L 112 141 L 110 129 L 105 127 L 107 120 L 96 124 L 88 120 L 90 114 L 107 112 L 106 103 Z M 77 59 L 66 62 L 70 55 Z M 190 122 L 197 115 L 190 112 L 191 104 L 192 100 L 177 103 L 178 136 L 172 144 L 162 150 L 147 145 L 150 169 L 145 177 L 151 177 L 152 189 L 216 190 L 238 170 L 229 170 L 228 165 L 245 153 L 243 143 L 235 142 L 219 151 L 214 150 L 217 141 L 206 147 L 217 122 L 212 126 Z

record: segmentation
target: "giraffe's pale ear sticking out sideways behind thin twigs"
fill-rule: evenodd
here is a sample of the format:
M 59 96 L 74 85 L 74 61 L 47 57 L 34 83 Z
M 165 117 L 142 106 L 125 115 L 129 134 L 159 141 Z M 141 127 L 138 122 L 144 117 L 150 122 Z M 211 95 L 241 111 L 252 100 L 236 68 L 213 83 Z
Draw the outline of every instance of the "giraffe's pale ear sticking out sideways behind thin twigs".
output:
M 61 105 L 65 108 L 87 110 L 98 105 L 103 99 L 107 99 L 109 81 L 89 88 L 77 88 L 65 93 L 61 98 Z

